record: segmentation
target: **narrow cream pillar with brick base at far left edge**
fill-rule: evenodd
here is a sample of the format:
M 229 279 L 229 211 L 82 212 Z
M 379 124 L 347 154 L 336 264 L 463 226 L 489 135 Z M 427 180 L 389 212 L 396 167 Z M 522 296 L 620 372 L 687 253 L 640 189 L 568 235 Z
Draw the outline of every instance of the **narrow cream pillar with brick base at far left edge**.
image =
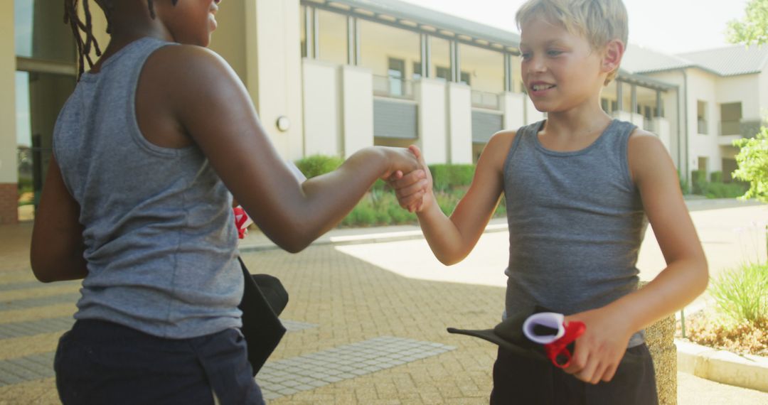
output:
M 13 2 L 0 12 L 0 224 L 18 221 L 16 162 L 16 47 Z

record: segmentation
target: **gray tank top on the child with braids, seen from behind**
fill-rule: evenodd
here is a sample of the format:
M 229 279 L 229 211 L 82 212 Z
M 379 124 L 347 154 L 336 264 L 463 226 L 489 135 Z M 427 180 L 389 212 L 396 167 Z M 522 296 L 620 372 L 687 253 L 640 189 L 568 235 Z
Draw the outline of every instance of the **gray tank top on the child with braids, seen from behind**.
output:
M 136 120 L 142 38 L 83 74 L 54 130 L 54 154 L 80 204 L 88 276 L 77 319 L 160 337 L 240 327 L 243 275 L 232 196 L 197 146 L 157 147 Z

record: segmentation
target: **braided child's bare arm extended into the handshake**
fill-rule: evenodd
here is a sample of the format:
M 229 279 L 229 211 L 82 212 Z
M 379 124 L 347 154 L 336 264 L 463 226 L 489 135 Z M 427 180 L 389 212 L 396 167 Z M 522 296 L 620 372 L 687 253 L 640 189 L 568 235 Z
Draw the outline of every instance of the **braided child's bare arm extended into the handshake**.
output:
M 300 183 L 261 126 L 232 68 L 204 48 L 162 48 L 142 81 L 163 86 L 167 115 L 189 134 L 259 228 L 298 252 L 343 219 L 380 176 L 419 169 L 402 148 L 355 153 L 333 173 Z M 144 76 L 146 75 L 146 76 Z

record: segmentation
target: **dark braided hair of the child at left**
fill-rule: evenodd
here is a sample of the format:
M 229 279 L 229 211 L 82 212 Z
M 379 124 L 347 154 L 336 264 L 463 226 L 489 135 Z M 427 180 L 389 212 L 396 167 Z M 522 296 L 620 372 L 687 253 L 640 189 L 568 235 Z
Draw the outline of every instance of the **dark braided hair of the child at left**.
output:
M 111 12 L 114 6 L 112 0 L 94 0 L 104 11 L 104 16 L 107 18 L 107 33 L 111 34 L 110 20 Z M 78 15 L 78 2 L 79 0 L 64 0 L 64 23 L 68 24 L 74 35 L 75 44 L 78 46 L 78 81 L 85 71 L 85 61 L 88 61 L 88 67 L 94 66 L 94 61 L 91 59 L 91 49 L 96 51 L 96 56 L 101 56 L 101 48 L 98 46 L 98 41 L 93 34 L 93 24 L 91 21 L 91 6 L 89 0 L 82 0 L 83 2 L 83 14 L 85 15 L 85 21 L 80 19 Z M 171 0 L 173 5 L 176 5 L 178 0 Z M 155 18 L 154 14 L 154 0 L 147 0 L 147 8 L 149 8 L 149 15 L 152 19 Z M 83 38 L 83 35 L 85 38 Z

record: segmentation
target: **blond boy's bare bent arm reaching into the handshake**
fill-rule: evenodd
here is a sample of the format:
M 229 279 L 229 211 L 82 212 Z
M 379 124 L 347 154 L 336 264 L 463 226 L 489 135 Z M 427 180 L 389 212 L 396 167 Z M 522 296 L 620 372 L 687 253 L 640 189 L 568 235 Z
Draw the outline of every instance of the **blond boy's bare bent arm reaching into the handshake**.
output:
M 429 247 L 443 264 L 461 262 L 472 252 L 488 225 L 503 191 L 502 166 L 514 137 L 514 132 L 502 131 L 488 141 L 478 160 L 472 186 L 458 202 L 450 218 L 442 212 L 434 195 L 429 194 L 432 193 L 431 187 L 427 191 L 429 195 L 425 196 L 425 201 L 428 203 L 419 209 L 417 216 Z M 402 184 L 408 183 L 409 180 L 404 178 Z M 404 205 L 403 197 L 399 198 L 401 205 Z

